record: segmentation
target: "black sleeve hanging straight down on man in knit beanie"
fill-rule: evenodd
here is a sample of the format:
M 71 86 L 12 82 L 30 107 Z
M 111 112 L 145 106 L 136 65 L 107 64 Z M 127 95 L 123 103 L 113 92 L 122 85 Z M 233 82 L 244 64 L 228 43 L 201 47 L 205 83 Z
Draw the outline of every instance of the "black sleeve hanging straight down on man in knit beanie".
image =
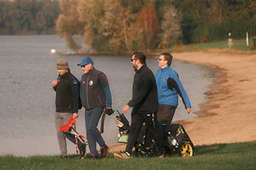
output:
M 79 107 L 79 82 L 78 80 L 73 80 L 71 82 L 71 93 L 72 93 L 72 112 L 77 113 Z

